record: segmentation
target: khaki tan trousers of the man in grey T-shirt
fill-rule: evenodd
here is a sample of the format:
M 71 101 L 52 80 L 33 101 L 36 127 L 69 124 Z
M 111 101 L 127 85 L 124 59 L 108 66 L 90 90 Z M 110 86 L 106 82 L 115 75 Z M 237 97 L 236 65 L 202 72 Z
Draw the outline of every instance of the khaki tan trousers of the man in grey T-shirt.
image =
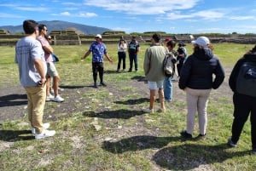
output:
M 44 87 L 25 87 L 27 96 L 28 120 L 36 134 L 43 131 L 43 115 L 46 98 L 46 85 Z

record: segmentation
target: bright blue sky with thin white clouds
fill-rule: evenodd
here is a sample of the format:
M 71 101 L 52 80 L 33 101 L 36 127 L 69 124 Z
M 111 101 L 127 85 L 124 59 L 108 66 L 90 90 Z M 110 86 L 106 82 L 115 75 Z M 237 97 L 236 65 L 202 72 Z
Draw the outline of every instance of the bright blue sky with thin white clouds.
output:
M 256 0 L 1 0 L 0 26 L 27 19 L 126 33 L 256 33 Z

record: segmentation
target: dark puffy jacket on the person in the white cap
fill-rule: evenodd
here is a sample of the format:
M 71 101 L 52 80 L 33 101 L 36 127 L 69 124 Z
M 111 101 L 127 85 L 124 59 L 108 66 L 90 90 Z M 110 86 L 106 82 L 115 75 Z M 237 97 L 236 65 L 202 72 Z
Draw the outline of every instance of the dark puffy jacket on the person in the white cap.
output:
M 224 67 L 217 56 L 212 54 L 210 48 L 201 48 L 191 54 L 184 63 L 178 86 L 181 89 L 216 89 L 223 81 Z

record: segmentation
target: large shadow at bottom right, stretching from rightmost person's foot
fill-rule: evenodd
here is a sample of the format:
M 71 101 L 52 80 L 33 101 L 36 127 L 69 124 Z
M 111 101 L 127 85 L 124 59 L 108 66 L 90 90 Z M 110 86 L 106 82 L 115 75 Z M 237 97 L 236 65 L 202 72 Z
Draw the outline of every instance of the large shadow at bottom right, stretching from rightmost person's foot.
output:
M 229 151 L 227 144 L 220 145 L 172 145 L 157 151 L 153 161 L 170 170 L 191 170 L 200 166 L 224 162 L 232 157 L 245 156 L 249 151 Z M 202 168 L 204 169 L 204 168 Z

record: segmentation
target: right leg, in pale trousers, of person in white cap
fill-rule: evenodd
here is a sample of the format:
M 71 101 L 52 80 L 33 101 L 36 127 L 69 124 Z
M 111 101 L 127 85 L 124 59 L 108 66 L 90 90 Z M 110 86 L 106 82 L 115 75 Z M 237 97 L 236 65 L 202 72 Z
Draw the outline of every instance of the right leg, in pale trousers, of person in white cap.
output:
M 207 104 L 211 89 L 201 89 L 198 99 L 198 123 L 201 135 L 207 134 Z

